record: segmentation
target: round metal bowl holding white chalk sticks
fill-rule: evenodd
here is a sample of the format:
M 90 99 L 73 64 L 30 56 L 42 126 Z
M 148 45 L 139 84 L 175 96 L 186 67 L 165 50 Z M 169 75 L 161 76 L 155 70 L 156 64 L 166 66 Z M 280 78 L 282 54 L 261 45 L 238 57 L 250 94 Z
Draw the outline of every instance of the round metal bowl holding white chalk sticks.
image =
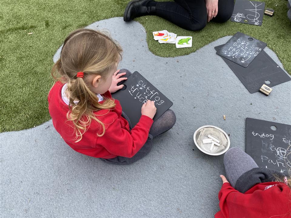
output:
M 214 145 L 214 148 L 212 151 L 210 151 L 210 146 L 211 144 L 203 144 L 202 140 L 203 139 L 209 139 L 207 136 L 211 135 L 218 139 L 220 142 L 220 146 Z M 206 125 L 199 127 L 194 135 L 193 135 L 194 143 L 198 147 L 199 150 L 201 150 L 205 154 L 217 156 L 224 154 L 230 146 L 230 141 L 229 137 L 226 134 L 225 131 L 220 129 L 219 127 L 216 126 L 211 126 L 211 125 Z

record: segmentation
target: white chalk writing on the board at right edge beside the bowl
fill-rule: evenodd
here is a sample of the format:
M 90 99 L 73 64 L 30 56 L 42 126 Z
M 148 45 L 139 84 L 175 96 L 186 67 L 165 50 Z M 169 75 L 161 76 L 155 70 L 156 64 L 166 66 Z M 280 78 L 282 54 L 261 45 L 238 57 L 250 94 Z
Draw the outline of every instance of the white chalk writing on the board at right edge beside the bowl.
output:
M 252 136 L 262 138 L 262 154 L 260 155 L 260 160 L 266 168 L 268 168 L 267 165 L 274 165 L 280 169 L 281 173 L 285 173 L 288 170 L 291 172 L 291 162 L 289 160 L 290 158 L 288 158 L 291 147 L 283 148 L 281 147 L 282 145 L 279 145 L 282 142 L 290 145 L 291 139 L 256 131 L 252 131 Z

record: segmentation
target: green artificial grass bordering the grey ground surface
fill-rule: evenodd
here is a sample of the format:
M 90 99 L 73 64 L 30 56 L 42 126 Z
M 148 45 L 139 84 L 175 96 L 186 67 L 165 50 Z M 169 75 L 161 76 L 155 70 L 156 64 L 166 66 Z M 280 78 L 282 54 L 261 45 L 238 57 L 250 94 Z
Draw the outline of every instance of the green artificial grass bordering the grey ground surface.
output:
M 129 0 L 21 0 L 0 3 L 0 132 L 27 129 L 50 119 L 47 94 L 52 87 L 52 56 L 69 32 L 95 21 L 123 16 Z M 156 16 L 136 18 L 147 31 L 150 51 L 162 57 L 186 55 L 237 31 L 267 43 L 291 73 L 291 23 L 287 1 L 267 0 L 273 17 L 262 26 L 227 21 L 187 31 Z M 193 37 L 192 48 L 159 44 L 152 32 L 167 29 Z M 28 35 L 28 33 L 33 34 Z

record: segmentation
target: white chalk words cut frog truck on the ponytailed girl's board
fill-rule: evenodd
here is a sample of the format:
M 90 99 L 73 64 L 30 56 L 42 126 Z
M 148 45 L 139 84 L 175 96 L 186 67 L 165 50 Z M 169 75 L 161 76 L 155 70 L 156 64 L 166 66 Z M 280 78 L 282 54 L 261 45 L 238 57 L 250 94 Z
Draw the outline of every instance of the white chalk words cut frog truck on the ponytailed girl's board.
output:
M 156 105 L 161 105 L 165 102 L 161 99 L 157 91 L 147 86 L 147 83 L 144 83 L 142 80 L 139 80 L 136 85 L 132 85 L 128 91 L 129 94 L 142 103 L 151 100 L 154 101 Z

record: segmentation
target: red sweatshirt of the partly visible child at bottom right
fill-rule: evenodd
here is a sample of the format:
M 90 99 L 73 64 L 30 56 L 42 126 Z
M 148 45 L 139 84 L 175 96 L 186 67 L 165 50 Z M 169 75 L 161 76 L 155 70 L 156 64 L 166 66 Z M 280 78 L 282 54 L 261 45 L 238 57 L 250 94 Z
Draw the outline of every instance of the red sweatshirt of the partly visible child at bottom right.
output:
M 258 183 L 244 194 L 223 183 L 218 194 L 219 217 L 291 217 L 290 188 L 285 183 Z

